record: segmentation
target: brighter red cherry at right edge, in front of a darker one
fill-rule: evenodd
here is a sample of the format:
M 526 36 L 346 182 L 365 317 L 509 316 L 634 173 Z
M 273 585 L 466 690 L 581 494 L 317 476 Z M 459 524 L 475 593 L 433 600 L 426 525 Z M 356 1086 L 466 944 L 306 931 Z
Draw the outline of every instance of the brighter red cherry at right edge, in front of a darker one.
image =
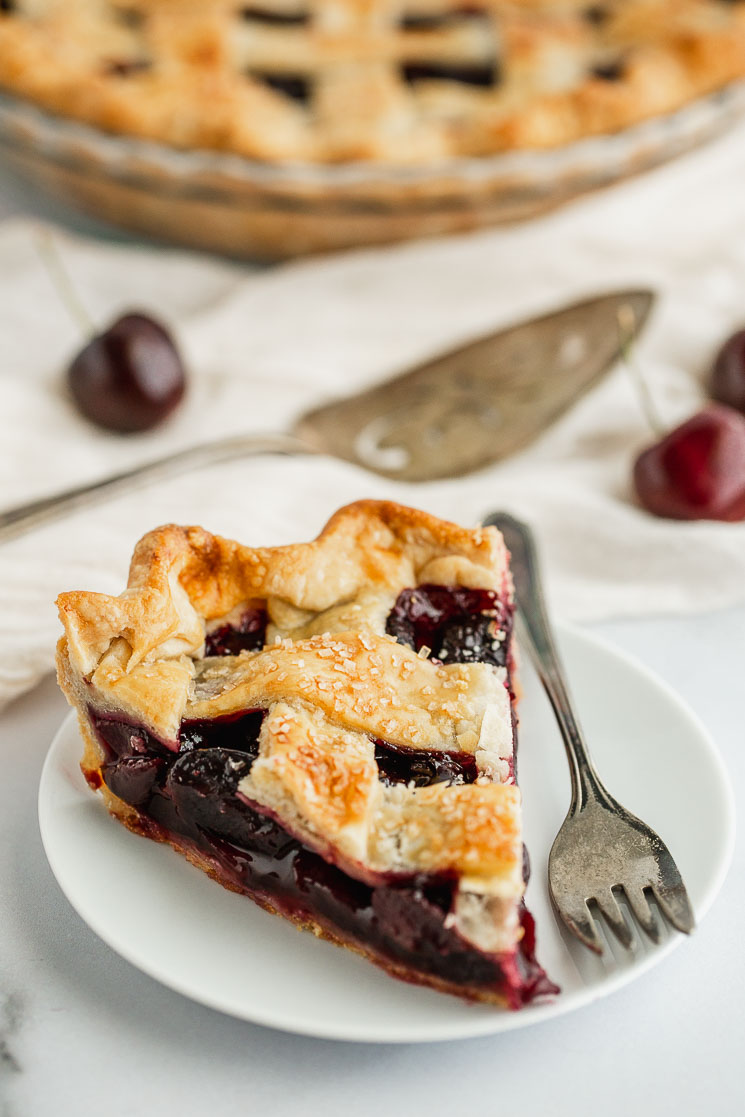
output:
M 745 416 L 711 403 L 639 455 L 641 504 L 669 519 L 745 519 Z

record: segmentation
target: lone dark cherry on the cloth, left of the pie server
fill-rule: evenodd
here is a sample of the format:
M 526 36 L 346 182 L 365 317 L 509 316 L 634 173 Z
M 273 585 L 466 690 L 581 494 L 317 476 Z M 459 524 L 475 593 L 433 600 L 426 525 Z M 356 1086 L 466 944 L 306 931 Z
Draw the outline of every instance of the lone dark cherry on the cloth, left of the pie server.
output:
M 145 314 L 125 314 L 93 337 L 70 364 L 67 378 L 86 419 L 122 433 L 162 422 L 185 389 L 173 338 Z

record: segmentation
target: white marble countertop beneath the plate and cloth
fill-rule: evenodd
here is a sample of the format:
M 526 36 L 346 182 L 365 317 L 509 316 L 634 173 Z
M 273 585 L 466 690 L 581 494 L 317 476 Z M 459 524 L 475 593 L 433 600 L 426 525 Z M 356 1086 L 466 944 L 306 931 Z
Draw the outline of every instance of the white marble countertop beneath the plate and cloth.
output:
M 0 219 L 28 212 L 113 236 L 0 165 Z M 720 748 L 742 808 L 745 609 L 591 630 L 688 701 Z M 695 936 L 638 982 L 575 1013 L 432 1046 L 294 1037 L 159 985 L 71 909 L 37 822 L 41 765 L 65 712 L 49 678 L 0 714 L 0 1117 L 745 1111 L 742 841 Z

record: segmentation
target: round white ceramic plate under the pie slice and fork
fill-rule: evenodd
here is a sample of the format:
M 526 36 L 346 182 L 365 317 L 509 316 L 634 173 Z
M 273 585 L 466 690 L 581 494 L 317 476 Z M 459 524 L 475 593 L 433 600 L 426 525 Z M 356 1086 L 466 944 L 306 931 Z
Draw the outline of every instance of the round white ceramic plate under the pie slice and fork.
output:
M 732 792 L 715 746 L 680 699 L 639 663 L 580 631 L 560 629 L 560 643 L 601 775 L 667 842 L 700 920 L 734 842 Z M 538 958 L 562 987 L 552 1001 L 507 1012 L 407 985 L 227 891 L 170 847 L 108 817 L 78 768 L 73 715 L 51 744 L 39 789 L 49 863 L 73 907 L 118 954 L 171 989 L 256 1023 L 390 1043 L 483 1035 L 570 1012 L 641 976 L 684 937 L 667 933 L 658 946 L 637 937 L 633 954 L 609 943 L 601 960 L 560 929 L 546 861 L 569 803 L 569 774 L 527 666 L 523 682 L 519 776 L 533 862 L 527 903 Z

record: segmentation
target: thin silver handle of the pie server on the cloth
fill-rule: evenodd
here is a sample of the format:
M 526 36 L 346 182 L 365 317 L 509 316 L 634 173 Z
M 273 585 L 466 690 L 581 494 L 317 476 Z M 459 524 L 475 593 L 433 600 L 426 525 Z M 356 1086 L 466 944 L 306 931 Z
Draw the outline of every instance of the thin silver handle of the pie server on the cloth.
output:
M 130 493 L 145 481 L 162 480 L 202 466 L 216 465 L 219 461 L 232 461 L 255 454 L 315 454 L 312 446 L 300 441 L 293 435 L 236 435 L 232 438 L 202 442 L 188 450 L 169 454 L 154 461 L 147 461 L 134 469 L 127 469 L 90 485 L 79 485 L 77 488 L 56 493 L 54 496 L 31 500 L 0 512 L 0 543 L 23 535 L 35 527 L 52 519 L 58 519 L 76 512 L 99 504 L 109 496 Z

